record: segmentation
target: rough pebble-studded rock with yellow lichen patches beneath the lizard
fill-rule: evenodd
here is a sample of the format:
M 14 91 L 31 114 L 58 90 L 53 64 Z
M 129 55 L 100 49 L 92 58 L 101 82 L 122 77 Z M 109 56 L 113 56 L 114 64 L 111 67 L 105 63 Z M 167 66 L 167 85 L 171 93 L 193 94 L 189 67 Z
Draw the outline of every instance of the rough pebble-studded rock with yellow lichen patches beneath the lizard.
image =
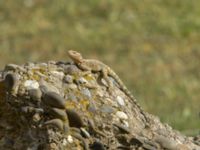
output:
M 186 137 L 144 113 L 110 77 L 73 63 L 9 64 L 0 72 L 0 149 L 199 150 Z

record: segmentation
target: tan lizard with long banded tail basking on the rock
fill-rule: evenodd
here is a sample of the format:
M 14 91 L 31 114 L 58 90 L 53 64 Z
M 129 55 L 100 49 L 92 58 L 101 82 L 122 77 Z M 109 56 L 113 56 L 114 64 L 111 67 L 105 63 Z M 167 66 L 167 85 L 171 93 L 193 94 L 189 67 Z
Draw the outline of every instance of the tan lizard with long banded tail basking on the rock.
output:
M 120 90 L 122 90 L 125 93 L 125 95 L 127 95 L 134 102 L 134 104 L 140 109 L 140 112 L 144 116 L 146 123 L 148 123 L 148 119 L 144 111 L 142 110 L 141 106 L 137 103 L 136 99 L 131 94 L 131 92 L 127 89 L 127 87 L 124 85 L 124 83 L 119 78 L 119 76 L 109 66 L 95 59 L 84 59 L 81 53 L 74 50 L 69 50 L 68 56 L 74 61 L 74 63 L 81 70 L 91 71 L 91 72 L 101 72 L 103 75 L 103 78 L 106 80 L 109 87 L 112 85 L 108 76 L 111 76 L 119 85 Z

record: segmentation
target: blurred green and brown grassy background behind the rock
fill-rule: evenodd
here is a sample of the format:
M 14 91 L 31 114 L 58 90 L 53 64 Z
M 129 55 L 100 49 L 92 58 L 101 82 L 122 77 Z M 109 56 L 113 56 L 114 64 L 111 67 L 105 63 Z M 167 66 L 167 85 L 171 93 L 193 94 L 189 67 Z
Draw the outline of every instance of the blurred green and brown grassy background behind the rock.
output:
M 140 105 L 200 130 L 200 1 L 0 0 L 0 67 L 80 51 L 116 71 Z

